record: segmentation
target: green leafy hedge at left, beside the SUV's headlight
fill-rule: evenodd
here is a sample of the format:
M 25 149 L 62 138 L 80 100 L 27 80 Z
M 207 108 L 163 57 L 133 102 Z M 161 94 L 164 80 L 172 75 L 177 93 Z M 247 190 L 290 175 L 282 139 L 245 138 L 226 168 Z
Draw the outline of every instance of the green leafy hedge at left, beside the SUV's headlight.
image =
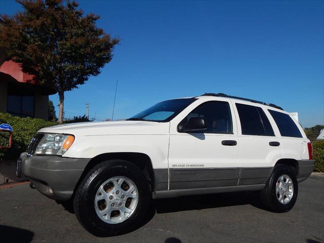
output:
M 8 113 L 0 113 L 0 124 L 9 124 L 13 128 L 12 147 L 0 150 L 0 158 L 17 158 L 27 150 L 30 139 L 41 128 L 57 125 L 52 121 L 39 118 L 21 118 Z M 8 144 L 8 133 L 0 133 L 0 145 Z

